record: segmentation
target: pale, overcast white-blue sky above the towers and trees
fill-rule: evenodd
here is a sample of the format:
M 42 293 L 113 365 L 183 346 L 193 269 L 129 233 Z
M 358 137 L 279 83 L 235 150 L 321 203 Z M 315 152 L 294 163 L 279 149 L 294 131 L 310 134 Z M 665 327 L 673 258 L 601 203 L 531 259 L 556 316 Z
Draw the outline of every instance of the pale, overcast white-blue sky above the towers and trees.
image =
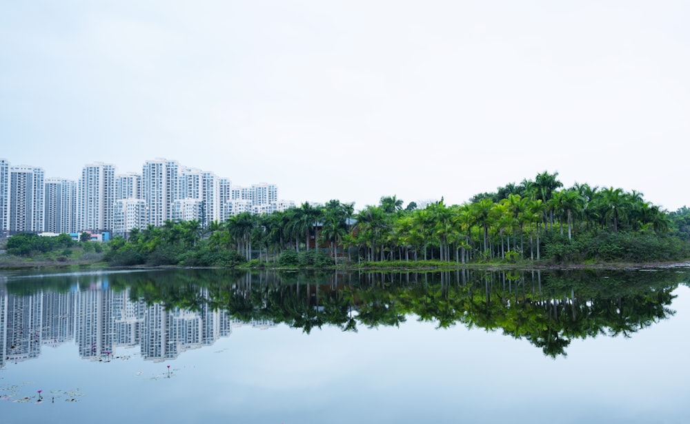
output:
M 558 172 L 690 205 L 690 2 L 0 0 L 0 158 L 175 159 L 279 198 Z

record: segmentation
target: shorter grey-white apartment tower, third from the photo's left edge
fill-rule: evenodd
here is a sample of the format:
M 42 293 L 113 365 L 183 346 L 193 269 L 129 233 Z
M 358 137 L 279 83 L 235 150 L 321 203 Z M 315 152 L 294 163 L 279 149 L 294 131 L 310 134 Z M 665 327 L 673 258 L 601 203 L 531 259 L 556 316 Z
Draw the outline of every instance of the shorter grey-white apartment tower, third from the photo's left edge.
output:
M 43 230 L 56 233 L 77 232 L 77 182 L 46 179 Z

